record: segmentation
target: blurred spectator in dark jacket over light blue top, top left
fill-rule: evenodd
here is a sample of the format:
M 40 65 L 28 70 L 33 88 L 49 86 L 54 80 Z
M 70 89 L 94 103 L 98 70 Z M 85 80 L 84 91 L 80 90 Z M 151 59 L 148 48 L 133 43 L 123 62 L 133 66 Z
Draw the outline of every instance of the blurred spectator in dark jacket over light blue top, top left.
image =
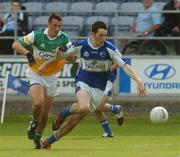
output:
M 16 17 L 17 17 L 17 35 L 25 35 L 28 33 L 28 16 L 26 13 L 18 12 L 20 10 L 25 10 L 25 7 L 21 5 L 20 0 L 11 1 L 11 12 L 4 15 L 1 19 L 2 29 L 0 31 L 1 36 L 14 36 L 16 29 Z M 16 13 L 17 12 L 17 13 Z M 15 14 L 17 16 L 15 16 Z M 0 54 L 13 54 L 13 49 L 11 45 L 13 39 L 0 39 Z

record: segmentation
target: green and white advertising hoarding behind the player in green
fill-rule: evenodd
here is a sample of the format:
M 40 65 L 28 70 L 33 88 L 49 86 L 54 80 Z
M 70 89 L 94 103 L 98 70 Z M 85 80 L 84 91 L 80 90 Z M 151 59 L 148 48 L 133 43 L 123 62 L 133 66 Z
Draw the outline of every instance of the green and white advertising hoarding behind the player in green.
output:
M 26 78 L 27 60 L 26 58 L 1 58 L 0 59 L 0 93 L 4 92 L 6 73 L 23 80 Z M 77 64 L 65 64 L 64 68 L 58 73 L 58 92 L 74 93 L 74 77 L 77 72 Z M 8 89 L 8 92 L 12 90 Z

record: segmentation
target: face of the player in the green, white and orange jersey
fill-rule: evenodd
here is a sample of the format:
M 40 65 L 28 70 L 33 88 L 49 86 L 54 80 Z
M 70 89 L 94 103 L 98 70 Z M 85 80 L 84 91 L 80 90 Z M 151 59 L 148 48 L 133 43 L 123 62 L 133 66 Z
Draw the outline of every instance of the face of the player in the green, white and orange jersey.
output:
M 52 19 L 52 21 L 48 23 L 48 35 L 52 38 L 56 37 L 59 31 L 62 29 L 62 26 L 63 26 L 63 21 Z

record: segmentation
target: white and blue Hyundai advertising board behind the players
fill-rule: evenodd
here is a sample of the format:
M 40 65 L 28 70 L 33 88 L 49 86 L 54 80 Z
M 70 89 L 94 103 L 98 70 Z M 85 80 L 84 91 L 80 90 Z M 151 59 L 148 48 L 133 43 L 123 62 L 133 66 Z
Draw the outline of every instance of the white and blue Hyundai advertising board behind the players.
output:
M 180 59 L 131 59 L 130 64 L 142 78 L 148 93 L 180 93 Z M 137 93 L 135 81 L 129 80 L 129 85 L 129 91 L 125 93 Z M 123 88 L 121 83 L 120 93 L 123 93 Z

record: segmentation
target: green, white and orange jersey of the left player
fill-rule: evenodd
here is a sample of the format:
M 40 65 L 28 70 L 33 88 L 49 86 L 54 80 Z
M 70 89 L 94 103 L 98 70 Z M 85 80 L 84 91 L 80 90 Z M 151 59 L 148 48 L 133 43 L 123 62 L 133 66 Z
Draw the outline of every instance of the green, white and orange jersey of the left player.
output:
M 34 72 L 37 72 L 38 68 L 46 61 L 54 56 L 54 51 L 58 46 L 66 45 L 70 46 L 71 42 L 66 33 L 60 31 L 59 34 L 50 38 L 48 36 L 48 28 L 38 29 L 32 31 L 28 35 L 21 37 L 17 40 L 24 47 L 28 48 L 32 46 L 33 56 L 36 60 L 36 64 L 33 67 L 30 67 Z M 61 64 L 59 64 L 61 62 Z M 65 61 L 59 61 L 57 63 L 52 63 L 42 75 L 51 75 L 60 70 L 65 64 Z

